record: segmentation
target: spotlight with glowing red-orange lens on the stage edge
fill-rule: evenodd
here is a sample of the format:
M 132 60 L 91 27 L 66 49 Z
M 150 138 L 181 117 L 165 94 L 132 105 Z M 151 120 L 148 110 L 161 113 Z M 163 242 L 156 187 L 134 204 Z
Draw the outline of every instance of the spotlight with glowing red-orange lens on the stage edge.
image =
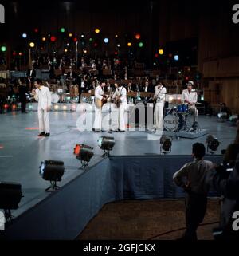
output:
M 80 160 L 81 168 L 85 169 L 88 167 L 92 156 L 94 156 L 93 148 L 84 144 L 76 144 L 74 155 L 76 155 L 76 159 Z

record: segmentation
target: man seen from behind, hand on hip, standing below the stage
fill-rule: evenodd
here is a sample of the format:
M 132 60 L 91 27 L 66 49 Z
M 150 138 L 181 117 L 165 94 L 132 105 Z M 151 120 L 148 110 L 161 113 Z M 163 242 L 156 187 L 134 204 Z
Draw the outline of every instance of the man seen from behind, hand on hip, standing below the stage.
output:
M 176 185 L 186 192 L 186 232 L 182 239 L 197 240 L 197 229 L 206 214 L 207 193 L 206 174 L 212 170 L 214 164 L 203 160 L 205 146 L 201 143 L 193 144 L 194 161 L 186 163 L 179 171 L 174 173 Z

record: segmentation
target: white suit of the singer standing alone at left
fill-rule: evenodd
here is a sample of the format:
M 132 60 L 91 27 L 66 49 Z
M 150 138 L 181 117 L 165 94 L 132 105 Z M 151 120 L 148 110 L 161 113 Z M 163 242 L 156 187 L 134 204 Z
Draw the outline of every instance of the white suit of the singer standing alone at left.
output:
M 35 100 L 38 101 L 39 132 L 49 133 L 49 112 L 47 108 L 51 107 L 52 97 L 48 87 L 41 86 L 40 88 L 36 89 L 34 96 Z

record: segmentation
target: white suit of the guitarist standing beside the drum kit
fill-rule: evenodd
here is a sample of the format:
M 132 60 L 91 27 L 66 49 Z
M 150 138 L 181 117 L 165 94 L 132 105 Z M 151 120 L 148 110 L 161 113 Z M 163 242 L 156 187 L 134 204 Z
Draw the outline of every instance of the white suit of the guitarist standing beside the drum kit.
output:
M 155 104 L 155 127 L 156 129 L 163 130 L 163 107 L 165 102 L 165 93 L 167 89 L 163 85 L 155 86 L 155 97 L 157 98 Z

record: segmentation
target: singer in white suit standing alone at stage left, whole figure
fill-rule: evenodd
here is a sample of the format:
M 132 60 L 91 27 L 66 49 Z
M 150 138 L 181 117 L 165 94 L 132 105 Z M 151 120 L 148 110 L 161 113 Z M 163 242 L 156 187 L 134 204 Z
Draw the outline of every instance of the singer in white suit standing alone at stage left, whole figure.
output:
M 34 98 L 38 101 L 39 135 L 49 137 L 49 111 L 51 110 L 51 94 L 48 87 L 42 85 L 40 79 L 34 81 L 36 90 L 33 90 Z

